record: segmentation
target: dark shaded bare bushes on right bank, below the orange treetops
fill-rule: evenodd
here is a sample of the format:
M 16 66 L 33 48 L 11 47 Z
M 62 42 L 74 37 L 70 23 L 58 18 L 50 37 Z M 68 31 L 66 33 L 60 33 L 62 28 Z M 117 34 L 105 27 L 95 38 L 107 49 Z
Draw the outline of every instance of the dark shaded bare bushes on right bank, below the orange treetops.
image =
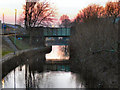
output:
M 76 24 L 71 32 L 72 70 L 83 74 L 89 88 L 118 88 L 118 24 L 99 19 Z

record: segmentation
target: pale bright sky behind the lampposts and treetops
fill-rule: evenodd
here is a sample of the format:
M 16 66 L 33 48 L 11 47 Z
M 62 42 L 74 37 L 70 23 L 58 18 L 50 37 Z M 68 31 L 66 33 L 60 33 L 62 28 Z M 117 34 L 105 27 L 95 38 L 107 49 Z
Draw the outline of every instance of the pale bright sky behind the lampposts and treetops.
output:
M 66 14 L 70 19 L 75 18 L 78 12 L 89 4 L 99 4 L 105 6 L 106 2 L 114 0 L 47 0 L 57 9 L 57 19 L 63 14 Z M 25 0 L 0 0 L 0 20 L 5 23 L 15 23 L 15 9 L 17 9 L 17 19 L 23 12 Z

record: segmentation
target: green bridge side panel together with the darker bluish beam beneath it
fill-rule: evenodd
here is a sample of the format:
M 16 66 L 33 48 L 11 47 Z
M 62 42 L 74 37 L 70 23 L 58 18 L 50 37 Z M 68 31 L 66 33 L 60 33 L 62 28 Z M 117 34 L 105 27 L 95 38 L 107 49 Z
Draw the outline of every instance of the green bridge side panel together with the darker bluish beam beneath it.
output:
M 68 45 L 70 28 L 45 28 L 46 45 Z

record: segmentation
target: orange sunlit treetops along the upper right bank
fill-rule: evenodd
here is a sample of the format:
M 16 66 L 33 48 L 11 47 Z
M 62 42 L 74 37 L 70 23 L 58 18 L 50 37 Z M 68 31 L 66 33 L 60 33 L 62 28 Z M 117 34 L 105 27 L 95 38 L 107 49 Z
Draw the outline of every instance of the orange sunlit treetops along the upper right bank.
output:
M 78 13 L 75 21 L 87 22 L 107 17 L 112 17 L 115 20 L 116 17 L 120 16 L 119 4 L 120 2 L 108 2 L 105 7 L 96 4 L 89 5 Z

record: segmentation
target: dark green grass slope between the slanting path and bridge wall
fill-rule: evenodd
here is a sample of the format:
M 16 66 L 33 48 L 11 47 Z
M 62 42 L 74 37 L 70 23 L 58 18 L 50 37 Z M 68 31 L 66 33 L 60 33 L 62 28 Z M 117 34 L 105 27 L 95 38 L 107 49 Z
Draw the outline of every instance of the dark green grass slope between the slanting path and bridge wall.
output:
M 14 42 L 14 37 L 11 36 L 10 39 L 12 40 L 12 42 L 15 44 Z M 19 50 L 25 50 L 25 49 L 29 49 L 31 48 L 30 45 L 28 45 L 27 43 L 25 43 L 23 40 L 18 40 L 16 39 L 16 47 L 19 49 Z

